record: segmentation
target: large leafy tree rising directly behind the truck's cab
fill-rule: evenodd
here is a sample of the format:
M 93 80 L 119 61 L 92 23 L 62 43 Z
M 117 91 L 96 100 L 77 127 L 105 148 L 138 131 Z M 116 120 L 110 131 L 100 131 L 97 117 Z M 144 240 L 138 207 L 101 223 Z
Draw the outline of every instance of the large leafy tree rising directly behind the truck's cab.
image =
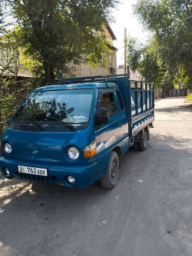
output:
M 108 50 L 102 33 L 118 0 L 9 0 L 19 46 L 38 62 L 45 82 L 83 60 L 97 63 Z

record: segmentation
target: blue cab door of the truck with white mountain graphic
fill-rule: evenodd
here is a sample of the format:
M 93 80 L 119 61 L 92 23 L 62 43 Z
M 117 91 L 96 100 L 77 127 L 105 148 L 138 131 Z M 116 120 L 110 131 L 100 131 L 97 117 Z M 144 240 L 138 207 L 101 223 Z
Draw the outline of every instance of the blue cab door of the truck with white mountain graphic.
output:
M 95 126 L 95 137 L 97 154 L 105 153 L 108 148 L 113 147 L 123 136 L 122 112 L 116 91 L 114 89 L 99 90 L 98 106 L 105 107 L 109 112 L 109 121 L 98 127 Z M 102 154 L 102 153 L 101 153 Z

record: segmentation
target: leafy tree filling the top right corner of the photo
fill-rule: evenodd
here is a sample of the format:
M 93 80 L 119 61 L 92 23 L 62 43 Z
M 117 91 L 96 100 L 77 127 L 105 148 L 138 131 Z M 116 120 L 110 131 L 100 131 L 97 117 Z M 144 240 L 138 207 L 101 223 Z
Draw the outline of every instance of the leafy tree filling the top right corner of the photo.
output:
M 139 0 L 134 14 L 152 31 L 158 55 L 176 78 L 192 83 L 191 0 Z

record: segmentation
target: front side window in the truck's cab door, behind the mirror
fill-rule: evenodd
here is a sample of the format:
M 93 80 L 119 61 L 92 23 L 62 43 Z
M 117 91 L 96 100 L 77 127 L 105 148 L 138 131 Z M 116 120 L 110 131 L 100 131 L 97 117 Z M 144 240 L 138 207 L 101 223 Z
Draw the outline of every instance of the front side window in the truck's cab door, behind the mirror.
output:
M 117 105 L 115 102 L 114 93 L 104 93 L 101 99 L 101 107 L 108 108 L 109 115 L 114 114 L 117 112 Z

